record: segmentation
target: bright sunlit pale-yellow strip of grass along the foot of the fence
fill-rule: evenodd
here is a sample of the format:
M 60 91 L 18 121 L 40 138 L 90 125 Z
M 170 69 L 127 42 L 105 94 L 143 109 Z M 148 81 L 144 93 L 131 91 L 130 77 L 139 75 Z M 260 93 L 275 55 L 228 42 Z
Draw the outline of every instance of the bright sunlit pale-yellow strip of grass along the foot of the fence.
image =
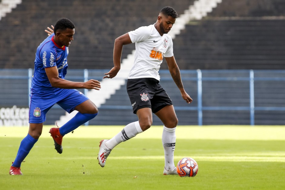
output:
M 51 138 L 49 129 L 53 125 L 45 125 L 40 138 Z M 74 133 L 65 138 L 101 138 L 110 139 L 124 126 L 80 126 Z M 163 127 L 151 126 L 138 134 L 135 139 L 161 139 Z M 0 135 L 5 137 L 24 138 L 28 132 L 26 127 L 1 127 Z M 180 126 L 175 131 L 176 139 L 193 140 L 234 140 L 234 141 L 285 141 L 285 126 Z

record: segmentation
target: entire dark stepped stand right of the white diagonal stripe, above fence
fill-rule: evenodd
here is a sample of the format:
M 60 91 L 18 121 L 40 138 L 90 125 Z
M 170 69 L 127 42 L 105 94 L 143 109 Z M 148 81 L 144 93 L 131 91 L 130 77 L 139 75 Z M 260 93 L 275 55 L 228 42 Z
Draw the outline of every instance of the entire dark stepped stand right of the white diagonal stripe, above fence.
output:
M 174 39 L 179 67 L 285 69 L 284 10 L 283 0 L 223 0 Z

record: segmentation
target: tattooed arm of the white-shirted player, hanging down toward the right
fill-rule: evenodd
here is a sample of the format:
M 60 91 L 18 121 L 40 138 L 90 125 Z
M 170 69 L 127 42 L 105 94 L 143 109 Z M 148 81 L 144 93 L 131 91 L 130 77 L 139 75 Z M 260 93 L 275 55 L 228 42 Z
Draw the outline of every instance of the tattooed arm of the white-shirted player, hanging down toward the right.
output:
M 177 63 L 175 61 L 174 56 L 172 56 L 172 57 L 164 57 L 164 58 L 165 58 L 165 60 L 167 62 L 168 70 L 169 70 L 169 72 L 171 74 L 171 77 L 173 78 L 173 81 L 175 82 L 175 84 L 177 85 L 177 87 L 180 90 L 182 98 L 188 104 L 190 104 L 192 102 L 192 98 L 184 90 L 183 83 L 182 83 L 182 80 L 181 80 L 180 70 L 179 70 L 178 65 L 177 65 Z

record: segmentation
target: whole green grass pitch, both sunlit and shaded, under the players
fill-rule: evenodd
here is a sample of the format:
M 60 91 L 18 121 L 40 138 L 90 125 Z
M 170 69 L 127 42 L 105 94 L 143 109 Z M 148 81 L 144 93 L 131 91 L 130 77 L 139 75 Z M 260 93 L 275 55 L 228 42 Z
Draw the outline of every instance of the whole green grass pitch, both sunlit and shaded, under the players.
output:
M 194 178 L 162 175 L 161 126 L 118 145 L 104 168 L 99 141 L 123 126 L 81 126 L 65 135 L 61 155 L 50 127 L 22 163 L 22 176 L 8 171 L 28 127 L 0 127 L 0 189 L 285 189 L 285 126 L 178 126 L 174 161 L 194 158 Z

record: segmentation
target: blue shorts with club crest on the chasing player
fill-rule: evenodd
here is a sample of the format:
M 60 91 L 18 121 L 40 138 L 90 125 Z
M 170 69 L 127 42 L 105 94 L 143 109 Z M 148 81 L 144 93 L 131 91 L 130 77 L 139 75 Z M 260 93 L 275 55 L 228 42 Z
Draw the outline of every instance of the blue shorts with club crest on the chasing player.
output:
M 29 110 L 29 123 L 43 123 L 48 110 L 55 104 L 58 104 L 68 113 L 74 111 L 75 107 L 89 98 L 82 92 L 75 89 L 56 89 L 54 94 L 49 95 L 30 95 L 31 103 Z

